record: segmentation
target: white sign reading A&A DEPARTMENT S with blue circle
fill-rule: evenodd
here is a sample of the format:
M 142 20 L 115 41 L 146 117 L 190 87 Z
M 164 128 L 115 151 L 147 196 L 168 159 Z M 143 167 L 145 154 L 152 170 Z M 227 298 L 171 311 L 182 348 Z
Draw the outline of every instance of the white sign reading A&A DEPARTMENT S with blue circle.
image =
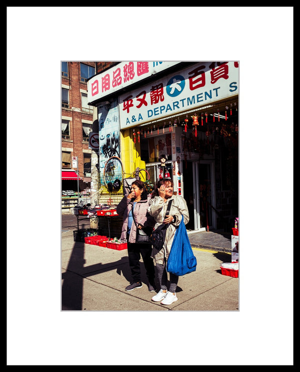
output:
M 120 129 L 238 94 L 238 62 L 204 62 L 119 96 Z

